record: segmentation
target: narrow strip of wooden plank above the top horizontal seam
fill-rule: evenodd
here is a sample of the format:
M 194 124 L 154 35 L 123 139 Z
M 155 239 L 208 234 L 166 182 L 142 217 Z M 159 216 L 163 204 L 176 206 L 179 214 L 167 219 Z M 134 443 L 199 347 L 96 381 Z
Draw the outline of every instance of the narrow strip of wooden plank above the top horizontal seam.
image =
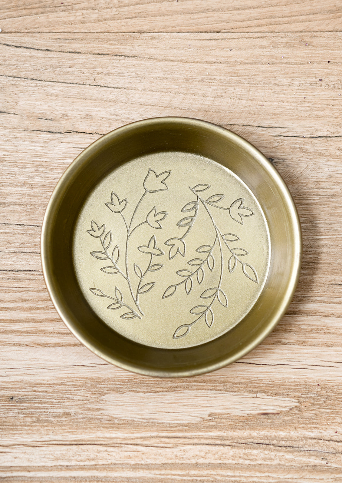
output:
M 336 0 L 18 0 L 0 28 L 28 32 L 322 32 L 342 30 Z

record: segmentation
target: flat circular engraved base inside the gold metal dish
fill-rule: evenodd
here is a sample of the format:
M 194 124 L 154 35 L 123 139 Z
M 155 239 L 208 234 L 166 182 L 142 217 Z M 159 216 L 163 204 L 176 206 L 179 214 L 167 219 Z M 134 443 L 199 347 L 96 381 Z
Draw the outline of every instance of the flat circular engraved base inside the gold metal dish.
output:
M 115 166 L 85 200 L 73 237 L 78 284 L 116 332 L 180 349 L 236 326 L 259 297 L 270 236 L 251 190 L 185 152 Z

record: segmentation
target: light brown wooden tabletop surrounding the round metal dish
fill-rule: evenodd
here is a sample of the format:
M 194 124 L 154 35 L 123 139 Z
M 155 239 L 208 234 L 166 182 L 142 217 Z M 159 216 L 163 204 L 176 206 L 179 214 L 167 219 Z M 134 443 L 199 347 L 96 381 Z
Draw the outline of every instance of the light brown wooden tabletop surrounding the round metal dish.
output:
M 259 3 L 1 4 L 1 481 L 342 481 L 341 8 Z M 39 255 L 45 206 L 72 159 L 161 115 L 254 143 L 303 230 L 278 327 L 231 366 L 181 380 L 85 349 L 50 302 Z

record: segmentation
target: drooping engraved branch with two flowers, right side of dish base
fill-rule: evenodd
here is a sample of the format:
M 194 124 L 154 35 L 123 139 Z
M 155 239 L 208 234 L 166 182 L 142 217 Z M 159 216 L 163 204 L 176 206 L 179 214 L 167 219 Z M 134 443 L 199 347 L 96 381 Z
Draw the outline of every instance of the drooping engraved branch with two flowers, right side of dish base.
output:
M 189 269 L 184 269 L 184 270 L 177 270 L 176 274 L 179 275 L 180 277 L 183 277 L 184 280 L 170 285 L 164 292 L 162 298 L 168 298 L 173 296 L 178 287 L 182 284 L 185 286 L 185 293 L 186 295 L 189 295 L 193 286 L 194 286 L 194 280 L 197 279 L 198 284 L 201 284 L 204 280 L 205 277 L 205 271 L 204 268 L 208 268 L 210 271 L 214 270 L 215 267 L 215 258 L 213 255 L 214 247 L 217 245 L 219 248 L 219 272 L 218 272 L 218 282 L 217 286 L 210 287 L 205 289 L 201 295 L 200 298 L 206 300 L 206 299 L 211 299 L 210 303 L 207 305 L 200 304 L 196 305 L 192 309 L 190 309 L 190 313 L 193 315 L 197 315 L 198 317 L 193 320 L 189 324 L 183 324 L 179 326 L 174 334 L 173 334 L 173 339 L 179 339 L 182 337 L 185 337 L 189 332 L 191 327 L 196 324 L 200 319 L 204 317 L 204 321 L 208 327 L 212 327 L 214 323 L 214 312 L 213 312 L 213 305 L 215 300 L 217 300 L 223 307 L 227 308 L 228 307 L 228 298 L 223 289 L 221 288 L 222 286 L 222 281 L 223 281 L 223 274 L 224 274 L 224 254 L 223 254 L 223 248 L 226 247 L 228 251 L 230 252 L 230 256 L 228 259 L 228 271 L 229 273 L 233 273 L 233 271 L 236 269 L 238 263 L 241 264 L 242 266 L 242 272 L 243 274 L 255 282 L 256 284 L 258 283 L 258 276 L 256 273 L 256 270 L 252 267 L 252 265 L 245 263 L 240 260 L 241 256 L 246 256 L 249 253 L 247 250 L 244 248 L 240 247 L 235 247 L 231 248 L 228 244 L 228 242 L 236 242 L 240 240 L 240 237 L 238 235 L 235 235 L 234 233 L 226 233 L 222 234 L 221 230 L 219 227 L 216 225 L 214 221 L 214 217 L 209 209 L 209 207 L 215 207 L 219 208 L 222 210 L 228 210 L 230 217 L 240 223 L 243 224 L 242 216 L 252 216 L 254 214 L 253 210 L 250 208 L 244 206 L 244 198 L 237 199 L 231 203 L 229 208 L 217 205 L 217 203 L 221 202 L 224 198 L 225 195 L 223 194 L 215 194 L 210 196 L 208 199 L 203 199 L 201 197 L 201 193 L 206 191 L 207 189 L 210 188 L 210 185 L 207 184 L 200 184 L 196 185 L 193 188 L 189 186 L 189 189 L 194 193 L 196 196 L 196 199 L 194 201 L 189 201 L 186 203 L 186 205 L 182 208 L 182 212 L 186 211 L 194 211 L 194 214 L 192 216 L 188 216 L 186 218 L 183 218 L 177 223 L 177 226 L 185 226 L 184 224 L 187 223 L 189 228 L 186 230 L 185 235 L 183 235 L 182 238 L 171 238 L 167 241 L 165 241 L 165 244 L 168 246 L 171 246 L 170 251 L 169 251 L 169 259 L 173 259 L 177 253 L 180 253 L 180 255 L 185 256 L 185 241 L 184 238 L 190 231 L 191 227 L 195 223 L 195 219 L 197 216 L 197 213 L 199 211 L 199 204 L 205 209 L 206 213 L 208 214 L 212 226 L 214 228 L 214 242 L 209 245 L 200 245 L 196 251 L 199 254 L 204 254 L 206 256 L 203 256 L 202 258 L 193 258 L 187 262 L 187 264 L 190 267 L 197 267 L 196 270 L 189 270 Z M 200 193 L 200 194 L 199 194 Z M 178 243 L 176 242 L 178 241 Z M 195 279 L 196 277 L 196 279 Z

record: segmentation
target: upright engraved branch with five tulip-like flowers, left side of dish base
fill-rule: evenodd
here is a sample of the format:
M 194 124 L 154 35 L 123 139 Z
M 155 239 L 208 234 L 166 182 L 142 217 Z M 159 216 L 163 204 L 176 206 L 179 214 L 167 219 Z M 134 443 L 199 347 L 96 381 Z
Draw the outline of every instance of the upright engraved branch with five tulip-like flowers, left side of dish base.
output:
M 107 307 L 108 309 L 119 309 L 120 307 L 128 308 L 130 312 L 121 315 L 121 318 L 124 318 L 127 320 L 131 320 L 136 317 L 141 319 L 142 318 L 141 316 L 144 315 L 140 307 L 139 295 L 145 294 L 150 290 L 152 290 L 155 285 L 155 282 L 148 282 L 146 284 L 142 284 L 142 281 L 148 272 L 154 272 L 154 271 L 160 270 L 163 267 L 163 264 L 161 263 L 152 264 L 153 256 L 164 255 L 163 250 L 161 250 L 160 248 L 157 248 L 156 246 L 157 240 L 155 235 L 153 235 L 150 238 L 147 245 L 141 245 L 138 247 L 138 250 L 140 252 L 150 255 L 150 261 L 147 265 L 147 268 L 144 271 L 141 269 L 141 267 L 138 264 L 136 263 L 133 264 L 134 273 L 139 279 L 137 288 L 135 289 L 134 288 L 135 284 L 133 283 L 133 280 L 132 280 L 132 273 L 130 273 L 130 270 L 129 270 L 130 264 L 128 263 L 128 245 L 129 245 L 130 237 L 136 229 L 138 229 L 139 227 L 145 224 L 155 229 L 162 228 L 160 222 L 164 220 L 164 218 L 168 215 L 168 213 L 166 211 L 157 212 L 157 208 L 156 206 L 154 206 L 146 214 L 145 219 L 143 221 L 141 221 L 138 224 L 135 224 L 136 223 L 135 219 L 136 219 L 139 207 L 142 203 L 142 200 L 145 198 L 147 194 L 157 193 L 158 191 L 166 191 L 169 189 L 165 181 L 170 176 L 170 174 L 171 174 L 170 170 L 163 171 L 159 174 L 157 174 L 151 168 L 148 170 L 148 173 L 146 174 L 143 181 L 144 192 L 141 198 L 139 199 L 137 205 L 134 208 L 134 211 L 129 220 L 129 223 L 125 218 L 124 214 L 122 213 L 128 204 L 128 201 L 126 198 L 120 200 L 119 196 L 116 193 L 114 193 L 114 191 L 112 191 L 111 201 L 105 203 L 105 205 L 109 210 L 111 210 L 113 213 L 118 213 L 122 217 L 122 220 L 125 224 L 125 230 L 127 235 L 126 235 L 126 243 L 125 243 L 125 256 L 124 256 L 125 267 L 124 268 L 122 267 L 122 264 L 119 265 L 121 252 L 118 244 L 116 244 L 114 246 L 114 249 L 112 249 L 112 242 L 113 242 L 112 231 L 109 230 L 106 233 L 105 225 L 103 224 L 99 226 L 95 221 L 91 222 L 91 229 L 87 230 L 87 233 L 89 233 L 89 235 L 91 235 L 94 238 L 98 238 L 100 240 L 100 243 L 102 246 L 102 250 L 90 252 L 90 255 L 94 256 L 98 260 L 102 260 L 102 261 L 109 260 L 111 262 L 111 265 L 102 267 L 100 270 L 109 275 L 119 274 L 121 275 L 122 278 L 124 278 L 124 280 L 128 284 L 131 298 L 133 299 L 133 302 L 136 306 L 137 311 L 135 309 L 132 309 L 131 307 L 129 307 L 123 302 L 122 292 L 119 290 L 118 287 L 115 287 L 115 298 L 105 295 L 102 292 L 102 290 L 100 290 L 99 288 L 91 288 L 90 291 L 94 295 L 98 295 L 99 297 L 106 297 L 106 298 L 113 299 L 114 303 L 108 306 Z

